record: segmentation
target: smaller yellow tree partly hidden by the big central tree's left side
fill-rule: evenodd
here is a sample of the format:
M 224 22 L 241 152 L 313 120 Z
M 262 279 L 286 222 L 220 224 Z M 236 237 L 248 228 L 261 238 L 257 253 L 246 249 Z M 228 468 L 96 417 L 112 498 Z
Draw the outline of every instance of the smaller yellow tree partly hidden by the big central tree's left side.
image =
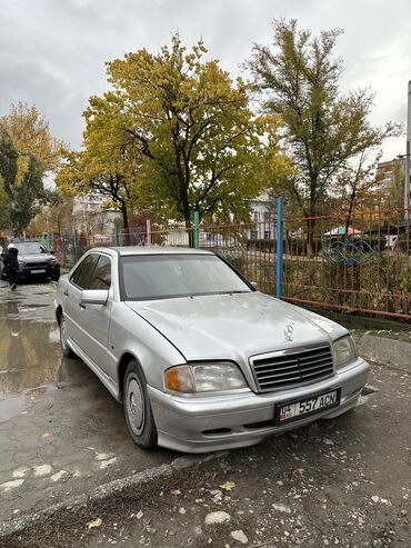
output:
M 63 195 L 89 191 L 104 196 L 122 213 L 126 239 L 138 185 L 138 151 L 127 146 L 122 102 L 113 93 L 90 98 L 84 111 L 82 151 L 67 151 L 56 182 Z

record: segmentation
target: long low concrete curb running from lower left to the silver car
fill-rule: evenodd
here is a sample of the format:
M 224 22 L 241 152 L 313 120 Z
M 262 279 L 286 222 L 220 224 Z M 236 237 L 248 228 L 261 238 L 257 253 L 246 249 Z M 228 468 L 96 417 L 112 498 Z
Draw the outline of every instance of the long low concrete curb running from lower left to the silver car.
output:
M 96 487 L 88 494 L 71 497 L 62 502 L 49 506 L 48 508 L 37 512 L 27 514 L 18 519 L 3 521 L 0 524 L 0 540 L 1 538 L 10 535 L 22 532 L 28 527 L 32 527 L 37 522 L 47 519 L 59 511 L 74 511 L 91 502 L 108 499 L 109 497 L 118 495 L 130 487 L 136 490 L 143 489 L 151 484 L 169 479 L 177 472 L 188 471 L 207 462 L 218 460 L 227 455 L 228 451 L 220 451 L 208 455 L 207 457 L 179 457 L 168 465 L 149 468 L 147 470 L 142 470 L 141 472 L 133 474 L 132 476 L 127 476 L 126 478 L 114 479 L 113 481 Z

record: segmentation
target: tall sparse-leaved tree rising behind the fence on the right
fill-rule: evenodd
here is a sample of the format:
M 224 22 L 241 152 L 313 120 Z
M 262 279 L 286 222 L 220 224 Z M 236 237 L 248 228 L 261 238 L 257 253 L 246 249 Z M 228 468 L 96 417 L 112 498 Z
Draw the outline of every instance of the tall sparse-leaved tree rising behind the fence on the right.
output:
M 340 33 L 337 29 L 313 37 L 299 30 L 295 20 L 274 20 L 272 46 L 254 44 L 247 63 L 262 108 L 284 122 L 298 169 L 289 192 L 305 217 L 317 215 L 350 159 L 398 132 L 392 123 L 384 128 L 370 123 L 373 94 L 369 90 L 340 92 L 343 66 L 334 57 Z M 311 237 L 309 229 L 309 243 Z

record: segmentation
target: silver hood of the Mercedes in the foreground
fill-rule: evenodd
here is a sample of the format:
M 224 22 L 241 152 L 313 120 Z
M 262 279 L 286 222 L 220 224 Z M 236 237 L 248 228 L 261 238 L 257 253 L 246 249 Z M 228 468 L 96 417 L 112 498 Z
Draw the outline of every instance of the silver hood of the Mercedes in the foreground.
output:
M 248 361 L 253 355 L 329 342 L 347 329 L 258 291 L 156 301 L 128 301 L 190 360 Z M 293 333 L 287 338 L 284 329 Z

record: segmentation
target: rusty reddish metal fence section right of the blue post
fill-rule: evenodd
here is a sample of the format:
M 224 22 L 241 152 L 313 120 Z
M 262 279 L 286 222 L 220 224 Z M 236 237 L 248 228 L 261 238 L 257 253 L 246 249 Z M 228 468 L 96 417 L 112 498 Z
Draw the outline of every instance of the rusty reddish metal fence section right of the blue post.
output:
M 411 319 L 410 209 L 284 218 L 284 298 Z

